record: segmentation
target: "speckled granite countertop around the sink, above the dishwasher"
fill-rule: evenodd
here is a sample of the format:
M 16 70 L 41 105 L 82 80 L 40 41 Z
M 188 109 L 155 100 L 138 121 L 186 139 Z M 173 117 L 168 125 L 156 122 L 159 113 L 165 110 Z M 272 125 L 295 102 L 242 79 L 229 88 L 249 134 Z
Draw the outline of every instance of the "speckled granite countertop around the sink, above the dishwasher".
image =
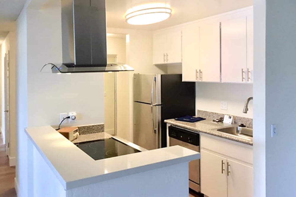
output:
M 243 139 L 241 137 L 236 137 L 234 135 L 219 132 L 219 131 L 215 130 L 215 129 L 218 129 L 221 127 L 237 126 L 236 124 L 230 125 L 230 124 L 226 124 L 226 123 L 215 123 L 213 121 L 208 121 L 208 120 L 198 121 L 195 123 L 189 123 L 189 122 L 184 122 L 184 121 L 176 121 L 175 119 L 165 120 L 165 123 L 168 123 L 168 124 L 171 124 L 174 126 L 178 126 L 181 128 L 185 128 L 185 129 L 188 129 L 191 131 L 197 131 L 200 133 L 207 133 L 207 134 L 210 134 L 213 136 L 218 136 L 221 138 L 230 139 L 230 140 L 241 142 L 244 144 L 253 145 L 253 139 L 247 140 L 247 139 Z

